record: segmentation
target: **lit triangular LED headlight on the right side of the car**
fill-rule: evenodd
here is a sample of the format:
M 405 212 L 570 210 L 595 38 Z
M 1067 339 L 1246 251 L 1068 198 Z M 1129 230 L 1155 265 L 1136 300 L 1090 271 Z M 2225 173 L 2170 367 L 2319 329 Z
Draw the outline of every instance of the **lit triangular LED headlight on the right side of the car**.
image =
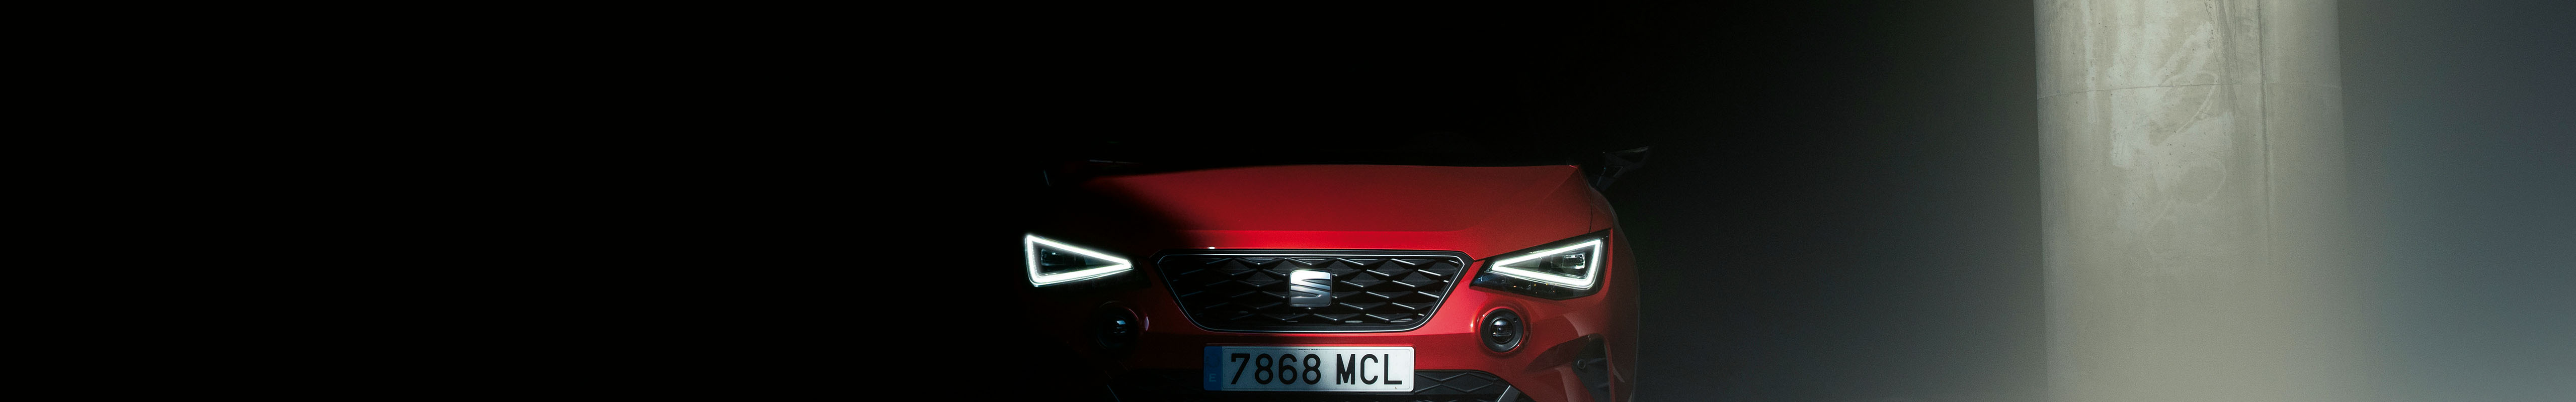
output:
M 1602 232 L 1574 240 L 1504 253 L 1476 273 L 1476 286 L 1515 294 L 1574 299 L 1597 294 L 1602 278 Z

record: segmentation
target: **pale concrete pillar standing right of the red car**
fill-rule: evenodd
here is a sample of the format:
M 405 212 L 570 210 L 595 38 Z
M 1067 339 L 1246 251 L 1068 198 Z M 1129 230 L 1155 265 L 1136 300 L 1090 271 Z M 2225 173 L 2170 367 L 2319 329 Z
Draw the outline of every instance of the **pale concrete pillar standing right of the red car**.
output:
M 2038 0 L 2053 402 L 2344 402 L 2331 0 Z

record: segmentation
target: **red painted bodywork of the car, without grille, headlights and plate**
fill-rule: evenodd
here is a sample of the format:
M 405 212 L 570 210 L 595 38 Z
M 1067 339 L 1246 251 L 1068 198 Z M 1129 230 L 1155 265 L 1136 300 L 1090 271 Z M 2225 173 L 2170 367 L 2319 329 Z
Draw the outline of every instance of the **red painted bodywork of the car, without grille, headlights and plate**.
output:
M 1412 345 L 1417 371 L 1471 368 L 1502 376 L 1538 402 L 1592 402 L 1574 374 L 1577 348 L 1607 350 L 1610 399 L 1636 381 L 1638 271 L 1610 204 L 1574 165 L 1273 165 L 1110 175 L 1079 186 L 1030 232 L 1126 255 L 1141 286 L 1028 291 L 1028 317 L 1108 381 L 1133 368 L 1200 368 L 1206 345 Z M 1600 291 L 1540 299 L 1463 283 L 1497 255 L 1607 229 Z M 1473 263 L 1440 309 L 1401 332 L 1218 332 L 1193 325 L 1159 278 L 1164 250 L 1455 250 Z M 1090 343 L 1082 317 L 1126 309 L 1144 332 L 1128 348 Z M 1515 309 L 1528 327 L 1512 350 L 1479 343 L 1479 320 Z

